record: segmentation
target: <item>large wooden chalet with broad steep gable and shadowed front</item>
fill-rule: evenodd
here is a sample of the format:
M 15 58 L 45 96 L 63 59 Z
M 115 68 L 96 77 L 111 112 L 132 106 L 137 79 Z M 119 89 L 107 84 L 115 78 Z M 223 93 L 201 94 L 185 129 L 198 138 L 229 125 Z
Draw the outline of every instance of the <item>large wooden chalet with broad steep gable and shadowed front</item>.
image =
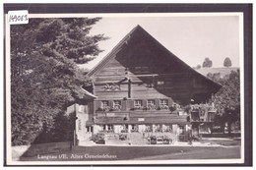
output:
M 186 65 L 140 26 L 87 77 L 89 83 L 81 89 L 83 102 L 68 108 L 68 113 L 77 113 L 79 141 L 99 132 L 173 133 L 179 141 L 187 141 L 191 124 L 200 119 L 194 119 L 184 106 L 205 103 L 221 87 Z

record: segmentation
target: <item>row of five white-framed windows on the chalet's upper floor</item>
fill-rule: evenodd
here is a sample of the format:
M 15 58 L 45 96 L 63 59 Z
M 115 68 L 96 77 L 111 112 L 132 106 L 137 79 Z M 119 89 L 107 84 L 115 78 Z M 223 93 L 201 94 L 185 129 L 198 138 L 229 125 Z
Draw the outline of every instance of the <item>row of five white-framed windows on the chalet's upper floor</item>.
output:
M 153 106 L 156 105 L 155 99 L 148 99 L 147 100 L 147 106 Z M 167 106 L 168 105 L 168 100 L 167 99 L 160 99 L 160 107 L 162 106 Z M 109 106 L 109 101 L 103 100 L 101 101 L 101 107 L 105 108 Z M 116 106 L 121 106 L 121 100 L 114 100 L 113 101 L 113 107 Z M 142 107 L 142 100 L 134 100 L 134 107 Z

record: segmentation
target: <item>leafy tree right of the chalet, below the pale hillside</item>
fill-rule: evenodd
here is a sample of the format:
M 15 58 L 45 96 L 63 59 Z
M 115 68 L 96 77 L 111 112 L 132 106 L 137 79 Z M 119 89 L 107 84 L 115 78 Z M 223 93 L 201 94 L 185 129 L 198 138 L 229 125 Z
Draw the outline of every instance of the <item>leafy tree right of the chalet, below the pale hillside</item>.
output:
M 212 100 L 218 110 L 218 117 L 227 123 L 228 134 L 231 133 L 231 124 L 240 120 L 240 79 L 239 70 L 231 71 L 221 78 L 219 74 L 208 75 L 208 78 L 223 85 L 213 96 Z

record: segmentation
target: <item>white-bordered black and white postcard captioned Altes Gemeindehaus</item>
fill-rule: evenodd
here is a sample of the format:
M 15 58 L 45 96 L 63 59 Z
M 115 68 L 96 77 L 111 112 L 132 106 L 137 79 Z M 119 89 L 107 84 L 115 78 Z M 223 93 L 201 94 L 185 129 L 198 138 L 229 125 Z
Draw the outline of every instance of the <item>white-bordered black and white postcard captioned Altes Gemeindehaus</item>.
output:
M 6 164 L 244 163 L 243 17 L 6 14 Z

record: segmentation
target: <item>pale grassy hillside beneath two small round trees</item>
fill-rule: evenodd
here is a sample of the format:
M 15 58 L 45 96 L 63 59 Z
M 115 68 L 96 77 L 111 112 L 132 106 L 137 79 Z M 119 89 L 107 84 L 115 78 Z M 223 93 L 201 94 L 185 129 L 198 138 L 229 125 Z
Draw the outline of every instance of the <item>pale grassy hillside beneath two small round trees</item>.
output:
M 197 71 L 198 73 L 207 76 L 208 73 L 221 73 L 221 76 L 225 76 L 228 75 L 231 71 L 236 71 L 237 69 L 239 69 L 238 67 L 231 67 L 231 68 L 201 68 L 201 69 L 195 69 L 195 71 Z

